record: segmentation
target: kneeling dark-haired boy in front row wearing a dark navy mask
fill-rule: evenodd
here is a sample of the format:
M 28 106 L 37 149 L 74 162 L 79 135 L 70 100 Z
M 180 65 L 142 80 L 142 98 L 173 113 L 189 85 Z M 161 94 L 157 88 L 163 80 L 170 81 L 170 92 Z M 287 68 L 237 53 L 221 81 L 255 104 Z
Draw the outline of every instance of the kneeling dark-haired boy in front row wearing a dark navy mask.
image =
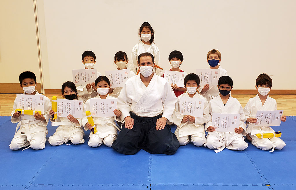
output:
M 204 146 L 217 149 L 215 152 L 220 152 L 225 147 L 231 150 L 244 150 L 248 147 L 248 144 L 244 141 L 247 131 L 244 124 L 245 116 L 242 105 L 230 95 L 233 87 L 232 79 L 229 76 L 222 76 L 219 78 L 217 86 L 220 94 L 209 102 L 210 115 L 205 125 L 208 134 Z M 215 131 L 215 127 L 212 126 L 213 113 L 239 113 L 239 128 L 235 128 L 233 132 Z

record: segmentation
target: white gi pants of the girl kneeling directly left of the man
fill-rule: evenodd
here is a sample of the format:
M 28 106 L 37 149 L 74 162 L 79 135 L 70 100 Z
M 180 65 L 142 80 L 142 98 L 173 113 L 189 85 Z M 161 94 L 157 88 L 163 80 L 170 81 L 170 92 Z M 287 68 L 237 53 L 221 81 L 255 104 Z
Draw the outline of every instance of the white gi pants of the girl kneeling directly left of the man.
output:
M 108 147 L 112 146 L 113 141 L 117 136 L 115 134 L 108 134 L 104 138 L 100 138 L 98 133 L 90 133 L 89 134 L 89 142 L 87 143 L 90 147 L 99 147 L 101 144 L 105 144 Z

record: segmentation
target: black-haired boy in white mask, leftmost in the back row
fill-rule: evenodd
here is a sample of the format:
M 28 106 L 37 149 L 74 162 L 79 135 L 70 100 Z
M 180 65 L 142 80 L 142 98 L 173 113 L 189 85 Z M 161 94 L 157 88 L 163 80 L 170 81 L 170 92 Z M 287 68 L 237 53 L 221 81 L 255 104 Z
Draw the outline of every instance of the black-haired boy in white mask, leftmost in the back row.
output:
M 82 53 L 82 64 L 84 64 L 84 69 L 94 69 L 93 66 L 96 64 L 96 55 L 92 51 L 84 51 Z M 97 71 L 97 77 L 102 76 L 101 73 Z M 86 84 L 76 87 L 78 95 L 85 103 L 88 99 L 95 97 L 98 93 L 96 92 L 96 86 L 94 82 L 92 84 Z

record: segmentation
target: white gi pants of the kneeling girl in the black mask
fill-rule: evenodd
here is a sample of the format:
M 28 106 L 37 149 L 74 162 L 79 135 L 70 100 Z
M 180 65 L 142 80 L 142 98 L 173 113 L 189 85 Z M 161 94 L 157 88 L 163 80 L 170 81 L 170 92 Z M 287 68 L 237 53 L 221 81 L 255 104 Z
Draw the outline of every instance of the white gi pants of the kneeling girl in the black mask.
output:
M 83 133 L 80 131 L 77 131 L 77 132 L 71 134 L 70 136 L 68 136 L 65 134 L 60 134 L 60 133 L 55 132 L 52 136 L 49 137 L 48 142 L 52 146 L 56 146 L 56 145 L 61 145 L 64 142 L 66 143 L 69 140 L 72 142 L 72 144 L 84 143 Z

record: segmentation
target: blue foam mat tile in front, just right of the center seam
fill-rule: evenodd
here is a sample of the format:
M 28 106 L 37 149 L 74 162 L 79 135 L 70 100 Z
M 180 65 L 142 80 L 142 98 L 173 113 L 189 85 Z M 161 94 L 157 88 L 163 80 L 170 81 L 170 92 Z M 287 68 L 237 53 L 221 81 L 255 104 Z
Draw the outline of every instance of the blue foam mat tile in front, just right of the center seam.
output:
M 152 184 L 234 184 L 234 181 L 265 184 L 243 151 L 224 149 L 215 153 L 190 143 L 181 146 L 173 157 L 152 155 Z

